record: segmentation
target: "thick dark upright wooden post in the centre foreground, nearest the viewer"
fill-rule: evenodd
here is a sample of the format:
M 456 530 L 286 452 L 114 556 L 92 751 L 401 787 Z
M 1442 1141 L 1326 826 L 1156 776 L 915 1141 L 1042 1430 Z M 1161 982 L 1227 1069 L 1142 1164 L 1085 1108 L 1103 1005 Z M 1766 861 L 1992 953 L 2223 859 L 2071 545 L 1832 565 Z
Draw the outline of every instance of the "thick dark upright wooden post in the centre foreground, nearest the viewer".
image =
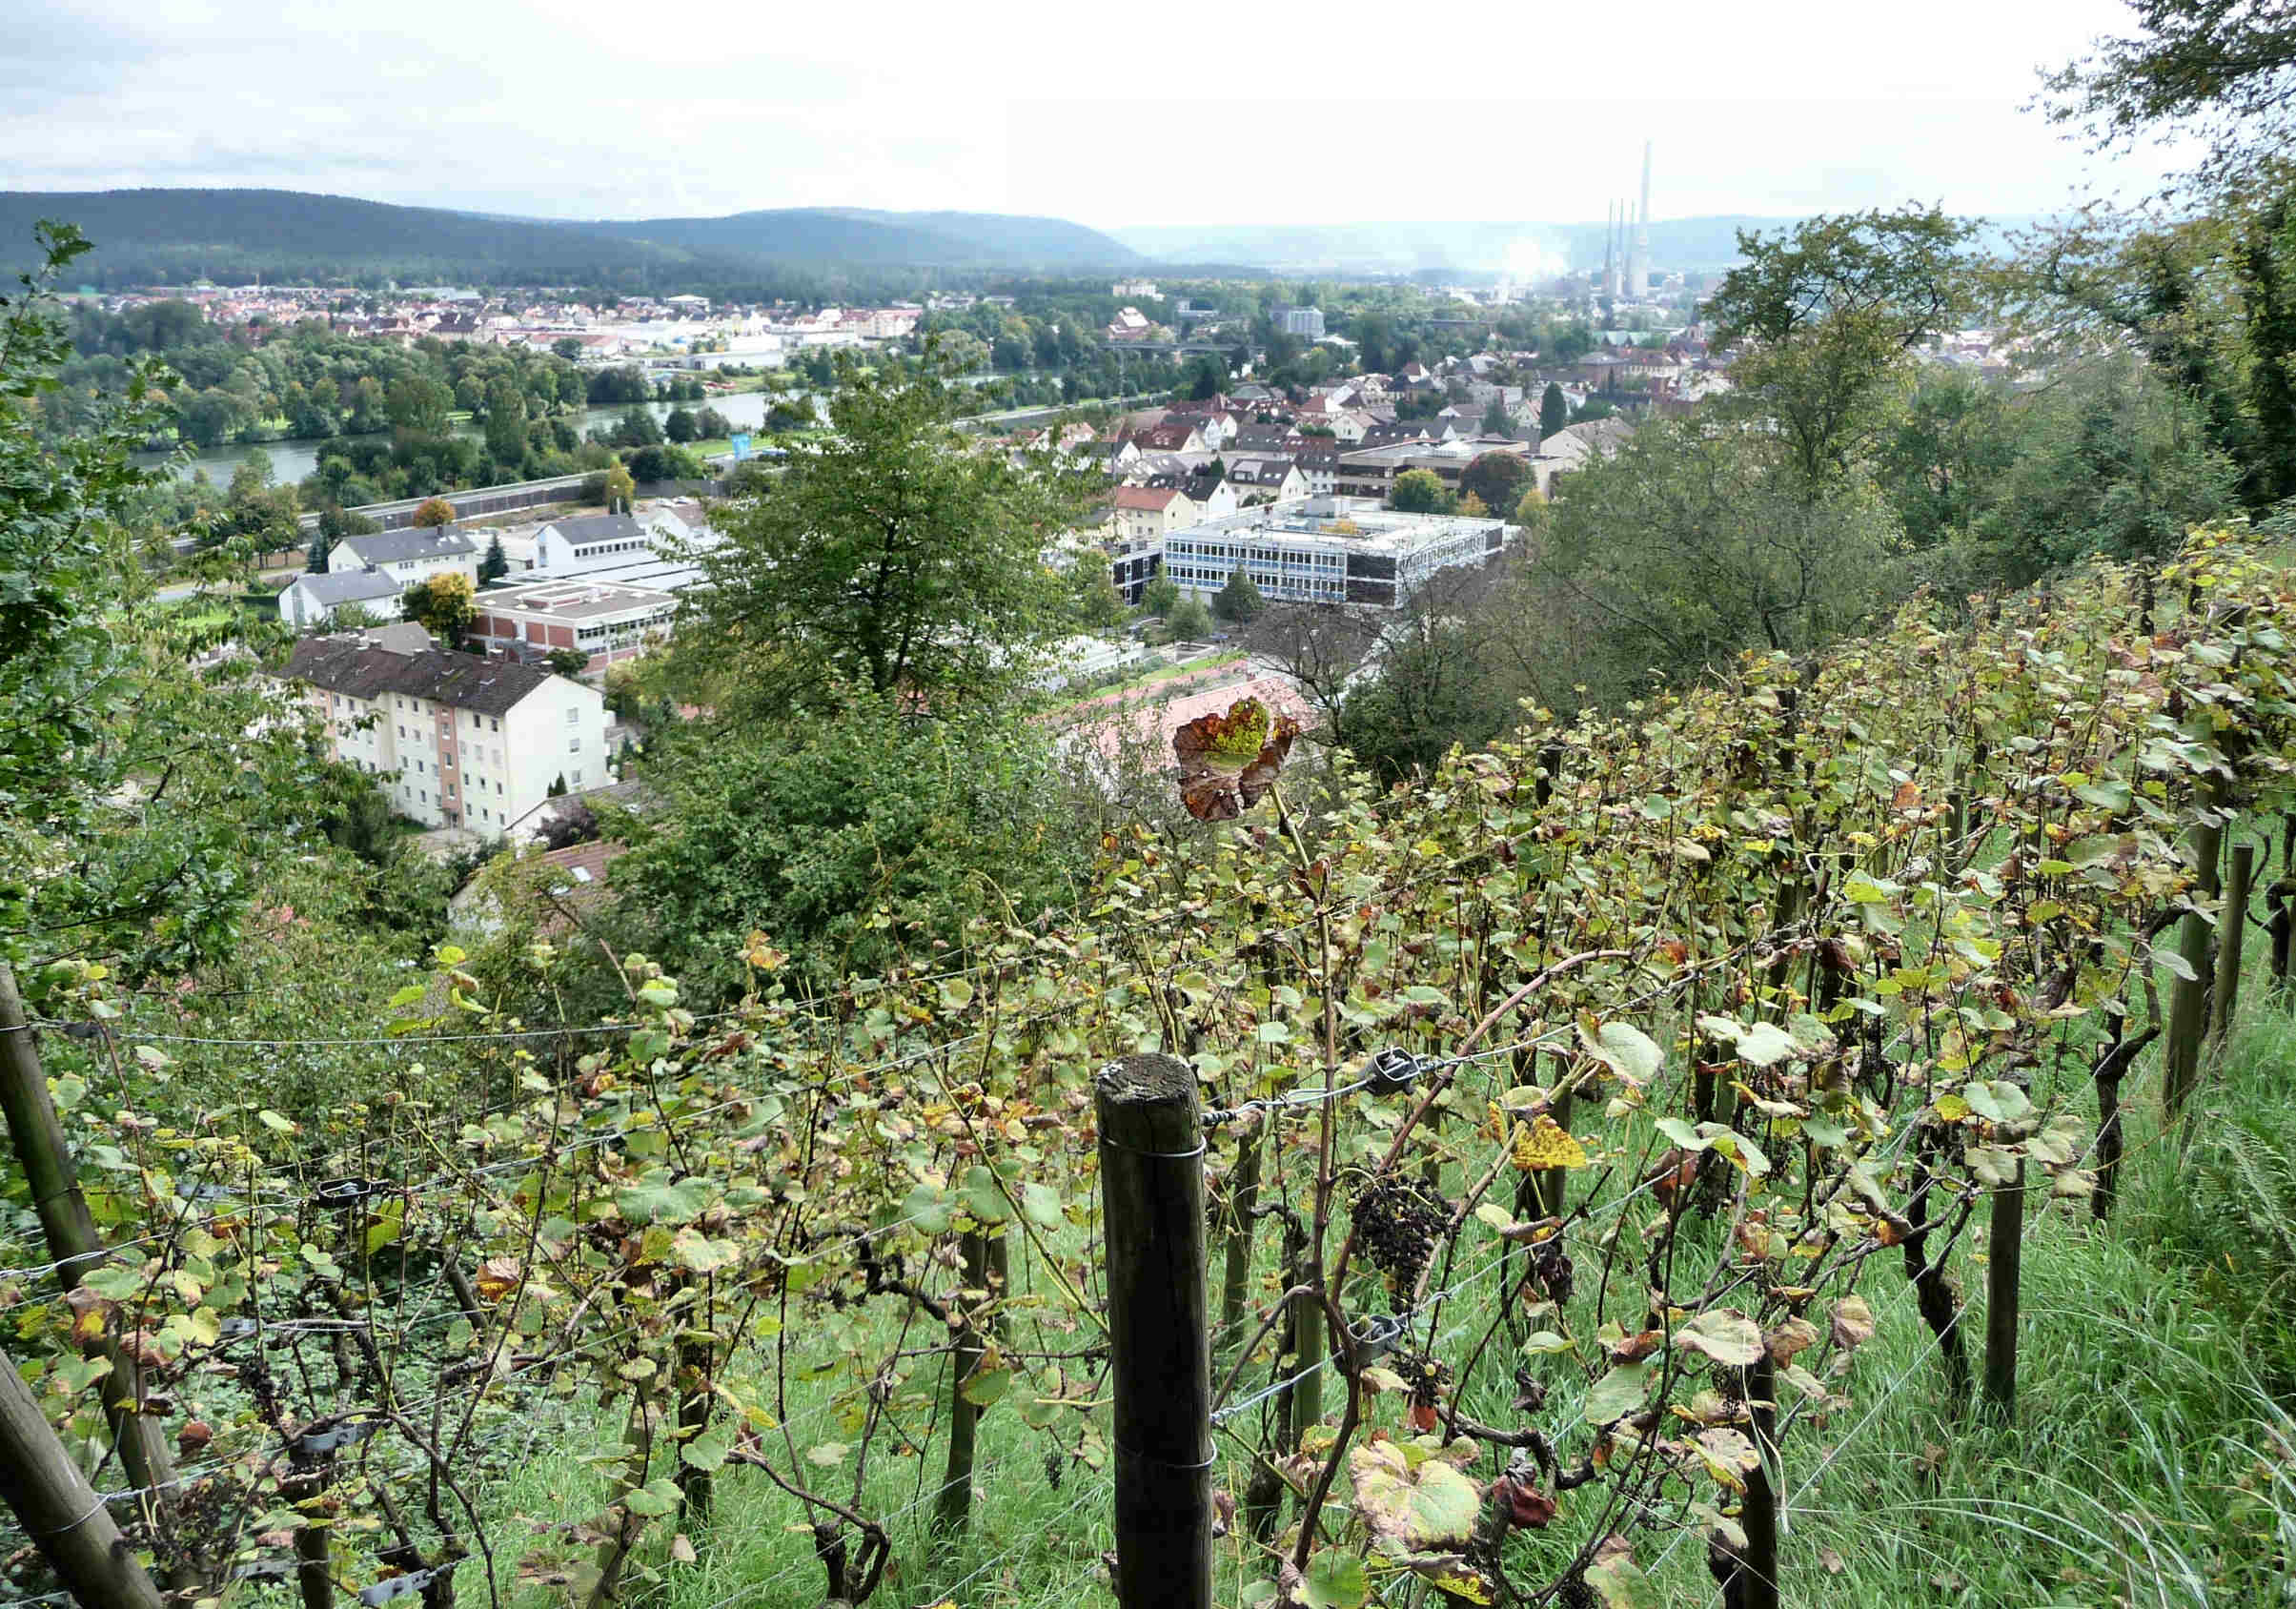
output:
M 1212 1609 L 1212 1336 L 1196 1074 L 1125 1056 L 1093 1079 L 1116 1430 L 1116 1602 Z

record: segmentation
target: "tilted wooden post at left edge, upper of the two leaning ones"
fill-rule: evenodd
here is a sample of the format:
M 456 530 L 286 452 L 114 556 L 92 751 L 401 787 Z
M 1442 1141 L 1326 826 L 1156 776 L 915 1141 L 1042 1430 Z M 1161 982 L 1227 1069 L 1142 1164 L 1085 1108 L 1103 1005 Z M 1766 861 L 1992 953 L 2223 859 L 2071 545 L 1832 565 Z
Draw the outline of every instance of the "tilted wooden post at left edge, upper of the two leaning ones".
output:
M 39 1214 L 48 1258 L 57 1265 L 55 1283 L 71 1292 L 103 1262 L 106 1251 L 96 1219 L 80 1194 L 64 1125 L 57 1122 L 55 1102 L 48 1097 L 48 1074 L 39 1065 L 23 996 L 16 994 L 16 971 L 7 962 L 0 962 L 0 1116 L 7 1118 L 16 1164 L 32 1187 L 32 1210 Z M 113 1336 L 106 1336 L 103 1354 L 113 1363 L 101 1386 L 103 1418 L 113 1446 L 119 1448 L 119 1464 L 129 1480 L 145 1490 L 147 1513 L 168 1513 L 174 1508 L 174 1460 L 168 1455 L 158 1418 L 142 1412 L 142 1366 Z

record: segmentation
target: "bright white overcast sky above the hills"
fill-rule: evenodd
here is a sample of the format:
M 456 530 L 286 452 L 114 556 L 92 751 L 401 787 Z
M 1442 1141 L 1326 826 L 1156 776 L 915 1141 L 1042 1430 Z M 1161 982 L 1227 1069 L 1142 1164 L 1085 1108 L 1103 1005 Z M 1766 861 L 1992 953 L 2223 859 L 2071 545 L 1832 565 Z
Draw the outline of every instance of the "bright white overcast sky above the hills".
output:
M 276 186 L 560 218 L 960 207 L 1097 227 L 1573 223 L 2177 165 L 2018 110 L 2122 0 L 974 7 L 5 0 L 0 188 Z

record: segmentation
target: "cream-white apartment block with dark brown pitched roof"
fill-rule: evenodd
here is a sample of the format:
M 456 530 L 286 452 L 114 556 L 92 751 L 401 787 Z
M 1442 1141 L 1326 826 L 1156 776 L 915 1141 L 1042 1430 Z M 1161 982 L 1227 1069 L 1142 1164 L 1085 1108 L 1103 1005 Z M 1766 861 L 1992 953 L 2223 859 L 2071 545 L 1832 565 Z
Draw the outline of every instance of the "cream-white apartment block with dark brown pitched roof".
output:
M 390 803 L 425 826 L 494 835 L 558 783 L 608 780 L 595 686 L 450 654 L 413 622 L 303 638 L 282 679 L 326 723 L 331 755 L 390 778 Z

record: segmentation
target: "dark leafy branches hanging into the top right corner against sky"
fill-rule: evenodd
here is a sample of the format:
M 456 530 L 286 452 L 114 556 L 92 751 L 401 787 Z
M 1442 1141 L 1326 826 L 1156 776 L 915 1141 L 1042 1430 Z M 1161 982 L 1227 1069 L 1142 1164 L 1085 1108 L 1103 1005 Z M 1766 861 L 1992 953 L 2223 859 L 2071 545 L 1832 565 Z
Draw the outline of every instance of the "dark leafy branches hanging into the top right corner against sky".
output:
M 2131 0 L 2138 34 L 2099 39 L 2048 73 L 2048 119 L 2092 149 L 2147 133 L 2209 142 L 2202 181 L 2223 186 L 2296 145 L 2296 16 L 2252 0 Z M 2165 126 L 2165 129 L 2163 129 Z

